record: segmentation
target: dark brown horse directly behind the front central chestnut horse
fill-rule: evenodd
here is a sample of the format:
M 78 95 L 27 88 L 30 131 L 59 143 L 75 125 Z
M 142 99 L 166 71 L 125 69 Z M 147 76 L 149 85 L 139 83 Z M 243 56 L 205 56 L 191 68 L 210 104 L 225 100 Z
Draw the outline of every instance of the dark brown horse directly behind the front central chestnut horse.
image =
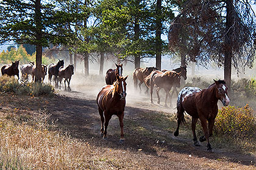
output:
M 116 75 L 121 77 L 123 75 L 123 64 L 116 64 L 116 69 L 108 69 L 105 82 L 106 84 L 112 85 L 116 81 Z

